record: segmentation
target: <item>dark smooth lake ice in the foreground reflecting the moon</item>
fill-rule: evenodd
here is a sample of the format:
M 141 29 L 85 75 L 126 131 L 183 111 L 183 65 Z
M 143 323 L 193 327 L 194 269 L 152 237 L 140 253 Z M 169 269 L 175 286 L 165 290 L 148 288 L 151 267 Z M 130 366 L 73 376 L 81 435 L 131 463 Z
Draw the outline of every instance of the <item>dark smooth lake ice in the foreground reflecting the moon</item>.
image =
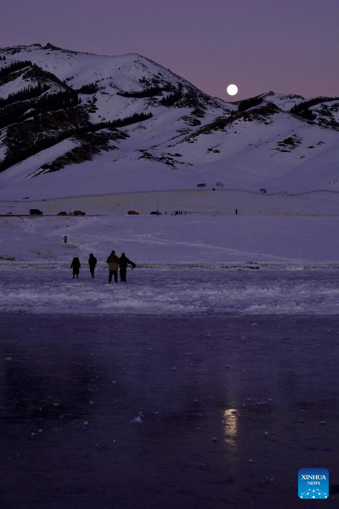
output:
M 336 316 L 0 324 L 4 509 L 298 509 L 300 468 L 338 484 Z

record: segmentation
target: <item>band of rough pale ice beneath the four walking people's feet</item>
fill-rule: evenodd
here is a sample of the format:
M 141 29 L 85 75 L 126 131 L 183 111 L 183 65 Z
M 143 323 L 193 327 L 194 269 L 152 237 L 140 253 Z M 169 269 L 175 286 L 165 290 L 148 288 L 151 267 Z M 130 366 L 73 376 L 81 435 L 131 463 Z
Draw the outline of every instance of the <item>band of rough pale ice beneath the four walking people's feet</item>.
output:
M 0 312 L 74 315 L 337 315 L 336 269 L 153 268 L 108 284 L 106 268 L 6 269 Z

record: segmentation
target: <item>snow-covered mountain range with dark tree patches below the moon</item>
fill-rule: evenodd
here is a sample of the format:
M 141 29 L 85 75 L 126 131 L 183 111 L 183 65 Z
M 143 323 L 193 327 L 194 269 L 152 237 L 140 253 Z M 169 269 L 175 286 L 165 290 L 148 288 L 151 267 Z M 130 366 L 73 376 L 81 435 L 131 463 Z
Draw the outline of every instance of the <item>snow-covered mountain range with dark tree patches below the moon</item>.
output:
M 138 54 L 3 48 L 0 197 L 217 182 L 336 190 L 339 99 L 329 99 L 266 92 L 227 103 Z

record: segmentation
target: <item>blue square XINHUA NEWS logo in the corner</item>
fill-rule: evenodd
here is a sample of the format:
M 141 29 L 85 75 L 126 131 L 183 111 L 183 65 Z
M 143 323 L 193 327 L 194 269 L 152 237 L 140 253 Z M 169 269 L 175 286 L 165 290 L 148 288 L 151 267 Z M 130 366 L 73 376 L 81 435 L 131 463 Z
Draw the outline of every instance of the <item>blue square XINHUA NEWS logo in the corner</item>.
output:
M 327 469 L 300 469 L 298 472 L 299 498 L 327 498 L 328 484 Z

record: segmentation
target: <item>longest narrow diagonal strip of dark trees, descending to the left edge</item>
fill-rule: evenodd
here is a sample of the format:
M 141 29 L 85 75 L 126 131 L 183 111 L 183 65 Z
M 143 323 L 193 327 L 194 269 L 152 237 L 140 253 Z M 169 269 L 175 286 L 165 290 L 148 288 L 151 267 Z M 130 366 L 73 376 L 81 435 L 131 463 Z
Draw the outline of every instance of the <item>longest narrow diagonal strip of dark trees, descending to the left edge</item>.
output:
M 68 129 L 54 136 L 36 140 L 34 142 L 31 142 L 29 146 L 17 150 L 14 154 L 6 156 L 3 161 L 0 160 L 0 172 L 17 164 L 17 162 L 27 159 L 27 157 L 37 154 L 41 150 L 45 150 L 52 147 L 53 145 L 56 145 L 60 141 L 71 136 L 77 136 L 87 132 L 96 132 L 99 131 L 100 129 L 105 128 L 110 129 L 124 127 L 130 124 L 135 124 L 136 122 L 140 122 L 142 120 L 146 120 L 147 118 L 151 118 L 152 116 L 153 116 L 152 113 L 135 113 L 134 115 L 131 115 L 129 117 L 118 118 L 117 120 L 113 120 L 112 122 L 100 122 L 99 124 L 89 124 L 86 127 Z

